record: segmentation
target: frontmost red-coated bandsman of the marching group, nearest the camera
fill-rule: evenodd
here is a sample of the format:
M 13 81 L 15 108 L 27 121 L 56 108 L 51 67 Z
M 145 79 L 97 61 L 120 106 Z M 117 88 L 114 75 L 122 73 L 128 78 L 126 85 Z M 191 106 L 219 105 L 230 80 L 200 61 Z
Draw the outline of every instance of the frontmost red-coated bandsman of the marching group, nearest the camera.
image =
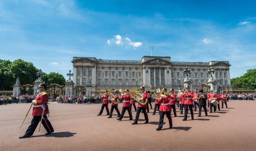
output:
M 162 91 L 167 92 L 166 88 L 163 88 Z M 159 113 L 160 113 L 160 119 L 159 119 L 159 124 L 158 128 L 156 129 L 157 131 L 160 131 L 163 128 L 163 118 L 164 114 L 166 114 L 168 120 L 169 120 L 169 128 L 172 128 L 172 117 L 171 117 L 171 105 L 170 105 L 170 100 L 169 100 L 169 95 L 166 96 L 161 96 L 159 95 L 159 100 L 160 100 L 160 108 L 159 108 Z

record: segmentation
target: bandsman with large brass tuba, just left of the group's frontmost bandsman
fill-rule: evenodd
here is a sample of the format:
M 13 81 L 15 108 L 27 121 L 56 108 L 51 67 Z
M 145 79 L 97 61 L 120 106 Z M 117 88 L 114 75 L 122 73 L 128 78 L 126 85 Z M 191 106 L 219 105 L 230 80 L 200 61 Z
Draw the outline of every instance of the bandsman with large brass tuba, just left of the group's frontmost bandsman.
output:
M 140 92 L 143 95 L 143 98 L 141 98 L 141 100 L 148 99 L 148 94 L 145 92 L 145 88 L 143 86 L 140 87 Z M 148 114 L 146 112 L 146 108 L 147 108 L 147 104 L 142 105 L 142 104 L 138 103 L 136 118 L 134 120 L 134 123 L 131 123 L 132 125 L 138 124 L 138 120 L 139 120 L 139 117 L 140 117 L 140 111 L 143 111 L 143 114 L 144 114 L 144 117 L 145 117 L 145 123 L 144 124 L 148 124 Z

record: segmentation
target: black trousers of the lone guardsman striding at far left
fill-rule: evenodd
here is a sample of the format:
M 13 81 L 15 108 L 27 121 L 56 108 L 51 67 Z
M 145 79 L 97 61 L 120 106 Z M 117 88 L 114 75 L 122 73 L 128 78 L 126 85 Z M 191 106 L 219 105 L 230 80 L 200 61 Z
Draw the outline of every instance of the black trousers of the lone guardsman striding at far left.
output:
M 32 136 L 34 134 L 38 123 L 40 123 L 40 121 L 41 121 L 41 118 L 42 118 L 41 115 L 40 116 L 33 116 L 32 120 L 31 120 L 31 124 L 29 125 L 29 128 L 26 130 L 25 135 Z M 52 124 L 47 119 L 46 115 L 44 115 L 44 119 L 42 119 L 42 125 L 46 129 L 47 133 L 52 133 L 54 131 L 53 128 L 52 128 Z

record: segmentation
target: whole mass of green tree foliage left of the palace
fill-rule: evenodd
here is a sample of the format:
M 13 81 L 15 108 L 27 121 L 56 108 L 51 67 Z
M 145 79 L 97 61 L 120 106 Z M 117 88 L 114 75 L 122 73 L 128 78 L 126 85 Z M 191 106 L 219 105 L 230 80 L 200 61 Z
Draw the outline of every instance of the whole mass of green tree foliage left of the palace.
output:
M 15 84 L 17 77 L 20 78 L 20 84 L 33 84 L 38 78 L 36 73 L 38 72 L 33 63 L 26 62 L 18 59 L 13 62 L 9 60 L 0 59 L 0 90 L 12 90 L 12 86 Z M 50 72 L 49 74 L 43 73 L 42 80 L 47 85 L 56 83 L 59 85 L 65 84 L 65 78 L 63 75 Z

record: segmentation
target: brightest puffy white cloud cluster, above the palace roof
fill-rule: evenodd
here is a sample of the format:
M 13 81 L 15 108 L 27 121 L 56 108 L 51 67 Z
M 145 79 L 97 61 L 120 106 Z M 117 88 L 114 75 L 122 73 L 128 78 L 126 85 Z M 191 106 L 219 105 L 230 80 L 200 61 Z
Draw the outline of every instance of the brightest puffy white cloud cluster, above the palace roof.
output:
M 130 48 L 131 46 L 134 49 L 136 49 L 136 48 L 138 48 L 138 47 L 143 45 L 143 43 L 141 43 L 141 42 L 134 42 L 130 38 L 122 37 L 119 34 L 114 35 L 113 38 L 111 38 L 111 39 L 108 39 L 107 43 L 109 45 L 111 45 L 111 43 L 115 43 L 116 45 L 119 45 L 119 46 L 124 45 L 124 47 L 127 48 L 127 49 Z

